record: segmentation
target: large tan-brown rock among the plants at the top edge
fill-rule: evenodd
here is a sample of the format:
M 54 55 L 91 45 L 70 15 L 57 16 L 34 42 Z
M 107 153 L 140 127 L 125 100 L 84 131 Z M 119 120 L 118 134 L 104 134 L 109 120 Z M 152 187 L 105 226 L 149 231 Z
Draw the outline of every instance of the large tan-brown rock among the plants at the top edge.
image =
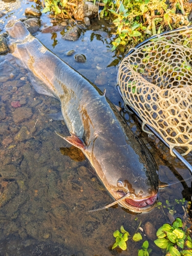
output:
M 92 2 L 80 3 L 74 12 L 74 18 L 82 21 L 84 17 L 88 17 L 92 19 L 92 18 L 95 18 L 97 15 L 98 15 L 97 6 L 94 5 Z

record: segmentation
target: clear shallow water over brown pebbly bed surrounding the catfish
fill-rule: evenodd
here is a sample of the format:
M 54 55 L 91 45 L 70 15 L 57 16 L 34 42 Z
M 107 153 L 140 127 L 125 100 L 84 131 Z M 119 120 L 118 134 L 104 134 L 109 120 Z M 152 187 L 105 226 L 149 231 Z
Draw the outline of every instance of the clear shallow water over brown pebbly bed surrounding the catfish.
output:
M 21 17 L 29 6 L 20 3 L 18 9 L 3 17 L 5 24 L 13 15 Z M 46 15 L 41 19 L 49 24 Z M 122 100 L 115 89 L 117 69 L 111 65 L 120 57 L 110 51 L 111 27 L 109 22 L 95 19 L 91 28 L 84 30 L 75 42 L 63 40 L 60 32 L 56 35 L 37 32 L 35 36 L 102 91 L 106 88 L 106 96 L 114 104 L 121 105 Z M 87 62 L 77 63 L 74 55 L 66 56 L 72 49 L 76 54 L 84 54 Z M 135 215 L 116 206 L 88 212 L 111 203 L 113 199 L 79 152 L 73 147 L 70 152 L 61 150 L 70 145 L 54 131 L 67 134 L 67 127 L 47 115 L 59 111 L 60 103 L 37 94 L 27 71 L 17 66 L 11 54 L 0 56 L 0 74 L 0 254 L 135 256 L 147 239 L 153 249 L 151 255 L 162 255 L 151 240 L 146 223 L 150 222 L 156 230 L 165 222 L 171 223 L 173 217 L 169 210 L 156 207 L 147 214 Z M 13 108 L 11 102 L 18 100 L 22 106 Z M 148 137 L 141 131 L 134 115 L 129 112 L 122 115 L 153 154 L 162 182 L 178 181 L 181 177 L 177 172 L 185 180 L 191 177 L 155 136 Z M 186 158 L 192 162 L 191 155 Z M 188 187 L 190 180 L 160 189 L 159 201 L 165 206 L 165 201 L 169 201 L 169 207 L 176 211 L 174 217 L 184 216 L 182 205 L 175 199 L 182 199 L 184 192 L 189 197 Z M 140 222 L 144 228 L 143 231 L 139 229 L 143 241 L 136 243 L 130 239 L 126 251 L 111 250 L 116 229 L 123 225 L 134 234 Z

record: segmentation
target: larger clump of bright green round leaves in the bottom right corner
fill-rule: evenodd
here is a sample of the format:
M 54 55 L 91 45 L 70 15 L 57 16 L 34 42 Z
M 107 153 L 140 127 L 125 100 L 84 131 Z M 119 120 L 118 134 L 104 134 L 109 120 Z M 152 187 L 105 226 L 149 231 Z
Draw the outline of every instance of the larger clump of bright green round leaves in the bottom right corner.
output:
M 154 243 L 161 249 L 166 250 L 166 256 L 192 255 L 192 242 L 188 229 L 182 230 L 183 223 L 176 218 L 172 225 L 164 224 L 157 230 L 157 237 Z M 189 250 L 184 250 L 184 247 Z

